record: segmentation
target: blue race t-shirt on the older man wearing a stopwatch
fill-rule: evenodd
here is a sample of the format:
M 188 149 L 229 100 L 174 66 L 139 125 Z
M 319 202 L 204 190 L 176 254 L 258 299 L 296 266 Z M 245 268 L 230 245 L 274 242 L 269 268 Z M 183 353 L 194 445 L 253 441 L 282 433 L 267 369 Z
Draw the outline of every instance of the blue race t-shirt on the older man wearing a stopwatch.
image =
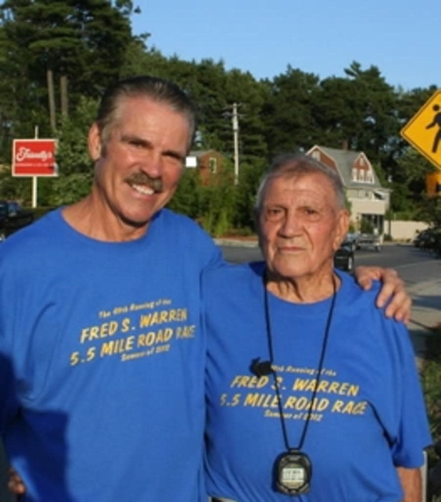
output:
M 286 501 L 275 491 L 274 464 L 286 451 L 274 376 L 260 379 L 255 359 L 269 360 L 263 265 L 225 266 L 204 274 L 207 490 L 240 502 Z M 268 293 L 273 369 L 290 448 L 312 462 L 302 502 L 397 502 L 395 466 L 418 467 L 430 444 L 414 355 L 405 327 L 342 279 L 323 367 L 319 359 L 331 299 L 293 304 Z

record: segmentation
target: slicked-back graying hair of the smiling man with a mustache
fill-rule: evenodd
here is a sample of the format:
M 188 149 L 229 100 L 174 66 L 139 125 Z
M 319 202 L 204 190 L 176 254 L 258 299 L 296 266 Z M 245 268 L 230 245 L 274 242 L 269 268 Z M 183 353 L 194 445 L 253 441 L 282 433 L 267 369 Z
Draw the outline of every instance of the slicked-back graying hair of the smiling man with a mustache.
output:
M 172 110 L 186 117 L 190 128 L 189 144 L 187 145 L 189 150 L 196 127 L 193 103 L 187 94 L 173 82 L 149 75 L 138 75 L 120 80 L 104 92 L 96 117 L 103 145 L 105 146 L 109 140 L 110 132 L 117 119 L 120 102 L 125 97 L 138 96 L 167 104 Z

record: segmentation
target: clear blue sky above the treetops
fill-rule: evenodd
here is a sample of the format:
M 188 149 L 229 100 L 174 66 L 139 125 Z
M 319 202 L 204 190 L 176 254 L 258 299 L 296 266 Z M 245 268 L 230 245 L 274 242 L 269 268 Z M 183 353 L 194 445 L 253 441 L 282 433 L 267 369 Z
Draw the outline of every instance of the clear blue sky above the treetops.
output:
M 441 87 L 439 0 L 134 0 L 134 34 L 165 56 L 222 59 L 273 78 L 287 65 L 321 79 L 358 61 L 404 90 Z

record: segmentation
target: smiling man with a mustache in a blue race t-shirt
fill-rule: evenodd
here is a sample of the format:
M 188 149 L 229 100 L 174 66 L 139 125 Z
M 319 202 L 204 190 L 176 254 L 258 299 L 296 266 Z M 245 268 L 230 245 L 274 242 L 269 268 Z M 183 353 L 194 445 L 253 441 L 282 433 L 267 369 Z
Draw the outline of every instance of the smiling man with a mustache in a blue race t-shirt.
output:
M 88 136 L 91 193 L 2 244 L 0 431 L 25 500 L 206 499 L 199 277 L 221 257 L 164 208 L 193 133 L 174 84 L 117 83 Z M 393 274 L 380 303 L 392 290 L 405 317 Z

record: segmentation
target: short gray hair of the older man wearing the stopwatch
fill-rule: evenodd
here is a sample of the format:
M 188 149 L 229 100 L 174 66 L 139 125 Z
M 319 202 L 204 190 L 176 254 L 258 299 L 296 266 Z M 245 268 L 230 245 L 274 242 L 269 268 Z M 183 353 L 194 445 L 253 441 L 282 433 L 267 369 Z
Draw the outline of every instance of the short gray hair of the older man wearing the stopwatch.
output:
M 265 192 L 270 181 L 282 176 L 296 176 L 312 173 L 324 174 L 332 184 L 339 209 L 346 207 L 346 198 L 339 173 L 321 162 L 304 154 L 283 154 L 276 157 L 262 178 L 256 195 L 254 207 L 258 219 L 264 202 Z

